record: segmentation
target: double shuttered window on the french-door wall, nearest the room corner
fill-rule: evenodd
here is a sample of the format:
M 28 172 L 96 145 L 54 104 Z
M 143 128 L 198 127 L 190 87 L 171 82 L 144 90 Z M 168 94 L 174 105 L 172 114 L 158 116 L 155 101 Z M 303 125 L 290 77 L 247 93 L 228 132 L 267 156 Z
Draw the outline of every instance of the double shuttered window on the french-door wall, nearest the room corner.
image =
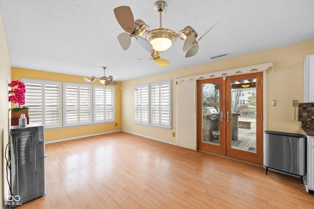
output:
M 134 122 L 172 128 L 172 80 L 134 87 Z

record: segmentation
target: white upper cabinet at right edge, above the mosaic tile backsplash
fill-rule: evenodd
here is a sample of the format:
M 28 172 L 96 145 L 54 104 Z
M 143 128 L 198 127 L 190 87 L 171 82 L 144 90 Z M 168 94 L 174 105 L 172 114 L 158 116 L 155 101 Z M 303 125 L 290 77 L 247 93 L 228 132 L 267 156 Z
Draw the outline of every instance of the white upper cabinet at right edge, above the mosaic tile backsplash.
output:
M 304 103 L 314 102 L 314 54 L 304 60 Z

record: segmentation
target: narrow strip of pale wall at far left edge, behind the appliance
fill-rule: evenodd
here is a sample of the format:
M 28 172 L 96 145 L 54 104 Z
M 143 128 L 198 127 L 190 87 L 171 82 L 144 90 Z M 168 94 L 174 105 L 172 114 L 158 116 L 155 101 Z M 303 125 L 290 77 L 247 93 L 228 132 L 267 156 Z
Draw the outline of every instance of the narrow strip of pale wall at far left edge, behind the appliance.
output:
M 0 202 L 3 203 L 3 198 L 7 197 L 8 184 L 6 183 L 6 161 L 4 158 L 5 146 L 9 142 L 9 102 L 8 101 L 8 83 L 11 81 L 11 64 L 6 43 L 5 32 L 2 22 L 2 15 L 0 10 L 0 159 L 1 159 L 1 173 L 0 173 Z M 8 152 L 7 152 L 8 153 Z M 8 158 L 8 154 L 5 154 Z M 5 193 L 4 193 L 5 191 Z

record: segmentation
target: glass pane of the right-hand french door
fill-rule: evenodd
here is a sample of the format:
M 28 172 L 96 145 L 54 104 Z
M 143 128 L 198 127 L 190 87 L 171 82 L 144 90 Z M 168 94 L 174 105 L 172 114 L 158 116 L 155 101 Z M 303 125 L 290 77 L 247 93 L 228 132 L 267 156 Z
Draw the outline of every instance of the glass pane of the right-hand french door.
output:
M 256 153 L 256 79 L 233 80 L 231 97 L 232 148 Z

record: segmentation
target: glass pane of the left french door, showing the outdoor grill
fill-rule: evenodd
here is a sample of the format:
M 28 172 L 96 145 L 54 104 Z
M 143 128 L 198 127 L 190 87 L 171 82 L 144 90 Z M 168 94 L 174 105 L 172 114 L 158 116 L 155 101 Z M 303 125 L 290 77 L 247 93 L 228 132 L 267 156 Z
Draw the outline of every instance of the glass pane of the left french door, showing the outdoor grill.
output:
M 220 83 L 202 85 L 202 142 L 220 144 Z

